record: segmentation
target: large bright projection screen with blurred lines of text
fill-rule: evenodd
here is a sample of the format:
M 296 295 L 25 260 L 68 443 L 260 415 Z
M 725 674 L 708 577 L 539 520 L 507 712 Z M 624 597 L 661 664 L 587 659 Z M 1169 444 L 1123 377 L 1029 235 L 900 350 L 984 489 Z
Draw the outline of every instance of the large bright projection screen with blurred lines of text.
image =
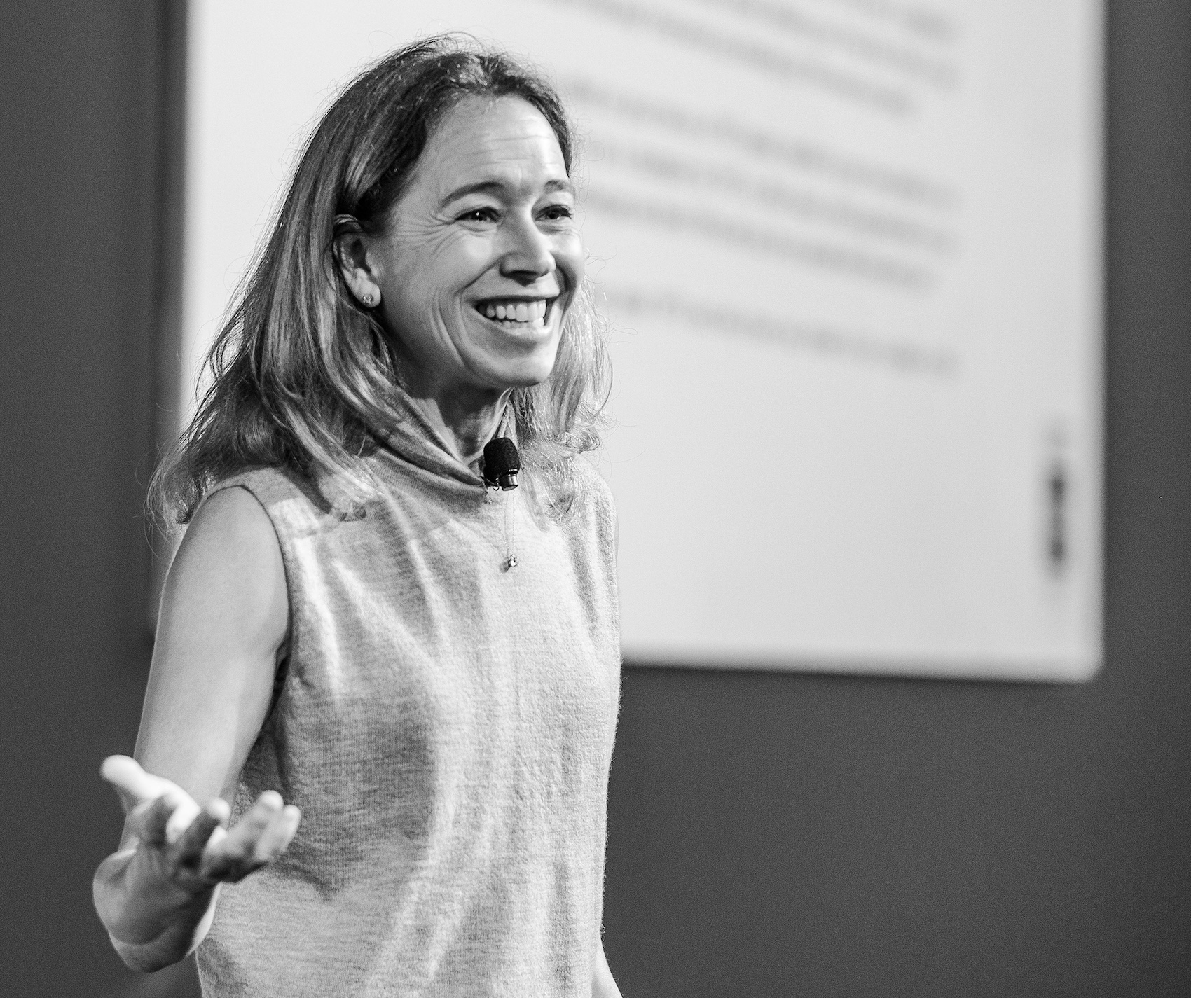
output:
M 183 417 L 320 110 L 466 31 L 582 136 L 626 661 L 1098 669 L 1100 2 L 189 6 Z

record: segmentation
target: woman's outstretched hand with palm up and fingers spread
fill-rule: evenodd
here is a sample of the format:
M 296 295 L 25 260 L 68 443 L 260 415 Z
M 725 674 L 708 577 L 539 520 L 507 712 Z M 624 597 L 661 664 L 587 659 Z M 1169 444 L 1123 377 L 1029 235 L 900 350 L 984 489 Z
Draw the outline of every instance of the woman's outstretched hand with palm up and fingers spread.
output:
M 231 807 L 214 798 L 200 807 L 177 784 L 155 776 L 126 755 L 112 755 L 100 769 L 124 799 L 136 853 L 126 875 L 133 890 L 167 885 L 183 894 L 208 893 L 219 882 L 236 882 L 280 856 L 301 815 L 273 791 L 227 830 Z

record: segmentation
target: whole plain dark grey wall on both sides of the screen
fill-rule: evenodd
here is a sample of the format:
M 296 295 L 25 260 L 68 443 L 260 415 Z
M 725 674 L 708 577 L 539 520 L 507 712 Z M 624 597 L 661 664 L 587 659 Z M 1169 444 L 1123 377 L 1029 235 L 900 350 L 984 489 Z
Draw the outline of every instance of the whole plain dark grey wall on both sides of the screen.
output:
M 89 884 L 148 661 L 169 6 L 0 11 L 4 993 L 131 987 Z M 628 669 L 626 998 L 1191 993 L 1191 12 L 1117 0 L 1110 35 L 1104 674 Z

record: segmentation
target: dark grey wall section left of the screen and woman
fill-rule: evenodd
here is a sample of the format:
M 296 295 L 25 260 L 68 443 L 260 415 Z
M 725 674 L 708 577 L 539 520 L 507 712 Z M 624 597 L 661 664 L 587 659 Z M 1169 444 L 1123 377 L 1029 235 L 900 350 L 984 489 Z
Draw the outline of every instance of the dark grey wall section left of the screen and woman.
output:
M 158 10 L 0 5 L 4 994 L 131 977 L 91 875 L 148 665 Z

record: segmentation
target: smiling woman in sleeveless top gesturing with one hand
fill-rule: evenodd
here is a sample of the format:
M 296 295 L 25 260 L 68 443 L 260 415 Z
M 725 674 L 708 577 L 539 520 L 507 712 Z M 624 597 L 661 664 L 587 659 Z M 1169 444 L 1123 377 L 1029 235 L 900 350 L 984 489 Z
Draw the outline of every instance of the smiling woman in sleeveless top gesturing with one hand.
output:
M 156 480 L 189 526 L 94 885 L 130 966 L 198 947 L 205 994 L 254 998 L 618 994 L 615 520 L 578 459 L 606 369 L 572 154 L 544 82 L 449 38 L 310 139 Z M 523 487 L 486 486 L 515 480 L 494 437 Z

